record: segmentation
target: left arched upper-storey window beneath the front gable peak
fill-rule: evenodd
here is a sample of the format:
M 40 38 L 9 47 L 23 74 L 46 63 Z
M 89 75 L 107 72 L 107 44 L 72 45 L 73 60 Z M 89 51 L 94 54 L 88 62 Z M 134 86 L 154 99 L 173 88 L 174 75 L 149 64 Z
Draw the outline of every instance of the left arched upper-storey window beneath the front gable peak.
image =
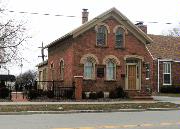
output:
M 107 37 L 107 29 L 105 26 L 101 25 L 97 29 L 97 46 L 105 46 Z

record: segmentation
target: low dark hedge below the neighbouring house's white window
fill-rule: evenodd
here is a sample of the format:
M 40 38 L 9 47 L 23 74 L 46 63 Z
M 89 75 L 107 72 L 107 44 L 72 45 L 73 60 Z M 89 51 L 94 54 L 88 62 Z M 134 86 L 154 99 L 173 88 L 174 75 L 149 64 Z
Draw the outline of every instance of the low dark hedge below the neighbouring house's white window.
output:
M 161 93 L 180 93 L 180 86 L 161 86 Z

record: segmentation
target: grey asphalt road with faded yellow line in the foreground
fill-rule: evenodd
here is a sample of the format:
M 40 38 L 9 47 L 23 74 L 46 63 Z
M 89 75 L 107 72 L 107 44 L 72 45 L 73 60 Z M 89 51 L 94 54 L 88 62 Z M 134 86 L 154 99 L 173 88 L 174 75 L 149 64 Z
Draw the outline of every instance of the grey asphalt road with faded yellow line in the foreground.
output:
M 179 129 L 180 111 L 0 115 L 0 129 Z

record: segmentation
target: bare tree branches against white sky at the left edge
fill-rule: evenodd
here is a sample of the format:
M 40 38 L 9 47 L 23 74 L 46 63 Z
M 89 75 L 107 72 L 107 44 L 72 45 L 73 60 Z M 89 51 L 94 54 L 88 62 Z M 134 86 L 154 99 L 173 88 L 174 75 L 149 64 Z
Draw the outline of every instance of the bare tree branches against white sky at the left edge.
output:
M 0 7 L 0 63 L 16 60 L 19 46 L 28 38 L 24 24 L 6 18 L 4 12 Z

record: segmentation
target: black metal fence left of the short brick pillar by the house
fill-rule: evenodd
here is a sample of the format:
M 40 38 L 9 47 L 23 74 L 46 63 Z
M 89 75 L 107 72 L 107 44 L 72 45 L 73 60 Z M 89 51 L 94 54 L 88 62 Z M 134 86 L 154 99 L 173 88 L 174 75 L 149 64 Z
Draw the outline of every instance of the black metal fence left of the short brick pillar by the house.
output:
M 43 91 L 52 93 L 56 99 L 74 99 L 75 86 L 64 85 L 62 81 L 36 81 L 35 89 L 41 94 Z

